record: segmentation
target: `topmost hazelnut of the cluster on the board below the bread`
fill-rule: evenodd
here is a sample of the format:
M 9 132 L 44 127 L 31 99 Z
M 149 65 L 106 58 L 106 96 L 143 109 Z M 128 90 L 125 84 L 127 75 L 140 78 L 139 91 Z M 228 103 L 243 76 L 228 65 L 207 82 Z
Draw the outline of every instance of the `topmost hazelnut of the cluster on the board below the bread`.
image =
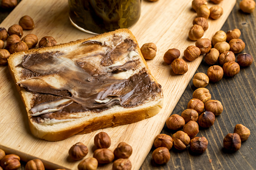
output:
M 111 145 L 111 139 L 106 132 L 100 132 L 94 137 L 94 144 L 98 148 L 109 148 Z

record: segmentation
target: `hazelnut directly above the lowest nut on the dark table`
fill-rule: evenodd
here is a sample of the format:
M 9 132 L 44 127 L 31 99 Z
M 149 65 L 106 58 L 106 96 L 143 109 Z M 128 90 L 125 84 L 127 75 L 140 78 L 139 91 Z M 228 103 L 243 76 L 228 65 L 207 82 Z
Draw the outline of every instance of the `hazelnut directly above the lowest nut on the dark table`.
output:
M 158 134 L 154 140 L 154 146 L 166 147 L 168 150 L 173 147 L 173 138 L 167 134 Z

